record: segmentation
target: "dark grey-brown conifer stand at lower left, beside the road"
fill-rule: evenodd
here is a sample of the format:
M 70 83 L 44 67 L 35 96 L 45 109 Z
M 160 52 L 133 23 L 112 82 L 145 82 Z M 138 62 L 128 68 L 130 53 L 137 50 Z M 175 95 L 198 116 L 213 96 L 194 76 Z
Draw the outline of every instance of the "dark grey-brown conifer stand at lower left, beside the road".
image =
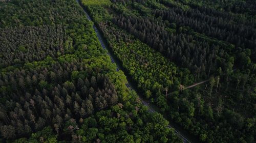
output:
M 6 99 L 0 112 L 3 137 L 29 136 L 45 125 L 54 126 L 58 132 L 64 121 L 71 118 L 78 121 L 115 105 L 118 96 L 108 77 L 89 74 L 92 69 L 82 67 L 84 64 L 57 62 L 48 68 L 3 74 L 0 80 L 1 98 Z M 62 75 L 61 80 L 58 75 Z

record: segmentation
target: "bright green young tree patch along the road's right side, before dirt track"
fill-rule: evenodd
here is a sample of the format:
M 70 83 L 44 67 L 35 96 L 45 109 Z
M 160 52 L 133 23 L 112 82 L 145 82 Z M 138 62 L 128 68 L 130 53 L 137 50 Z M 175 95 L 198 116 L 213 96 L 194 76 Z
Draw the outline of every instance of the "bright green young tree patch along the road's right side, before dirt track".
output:
M 108 29 L 106 29 L 107 25 L 101 24 L 100 26 L 105 34 L 112 33 L 109 36 L 114 37 L 116 33 L 119 33 L 119 30 L 112 25 L 108 25 L 111 27 Z M 123 31 L 120 32 L 125 35 Z M 120 39 L 119 41 L 112 40 L 111 37 L 107 37 L 107 39 L 111 41 L 112 50 L 117 54 L 123 66 L 130 71 L 132 78 L 138 83 L 138 87 L 144 91 L 147 98 L 155 95 L 158 91 L 163 92 L 163 87 L 173 89 L 178 71 L 173 63 L 138 40 L 128 43 Z

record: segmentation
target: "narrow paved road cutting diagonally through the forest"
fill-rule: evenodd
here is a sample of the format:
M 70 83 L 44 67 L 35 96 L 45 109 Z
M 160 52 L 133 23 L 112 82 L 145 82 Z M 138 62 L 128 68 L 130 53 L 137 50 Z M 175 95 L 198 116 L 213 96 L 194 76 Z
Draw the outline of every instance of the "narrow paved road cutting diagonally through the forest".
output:
M 81 4 L 79 3 L 79 0 L 76 0 L 76 2 L 81 6 Z M 81 6 L 81 7 L 82 7 L 82 6 Z M 87 15 L 88 19 L 89 19 L 90 21 L 92 21 L 91 17 L 89 16 L 89 14 L 87 13 L 86 10 L 84 10 L 84 13 Z M 106 48 L 104 42 L 102 41 L 103 38 L 102 38 L 101 35 L 99 34 L 99 32 L 98 32 L 98 30 L 97 30 L 97 27 L 96 27 L 95 25 L 93 25 L 93 28 L 94 28 L 94 30 L 95 30 L 95 32 L 96 32 L 96 34 L 97 34 L 97 37 L 98 37 L 98 39 L 99 39 L 99 41 L 100 41 L 100 44 L 101 44 L 102 48 L 108 50 L 108 49 Z M 114 61 L 114 58 L 113 58 L 113 57 L 111 56 L 111 54 L 109 53 L 109 50 L 108 50 L 108 55 L 110 56 L 112 63 L 116 63 L 116 62 Z M 119 71 L 120 67 L 119 67 L 118 64 L 116 64 L 116 65 L 117 65 L 117 69 L 116 69 L 116 70 Z M 131 87 L 129 81 L 128 81 L 128 83 L 126 83 L 126 87 L 129 88 L 130 90 L 134 90 L 134 89 Z M 150 112 L 152 112 L 152 113 L 153 113 L 153 112 L 156 112 L 156 110 L 155 110 L 151 105 L 149 105 L 146 101 L 144 101 L 141 97 L 139 97 L 139 100 L 141 101 L 142 104 L 144 104 L 145 106 L 148 107 L 148 111 L 150 111 Z M 169 127 L 169 128 L 173 128 L 173 127 L 170 126 L 170 125 L 168 125 L 168 127 Z M 174 128 L 174 131 L 175 131 L 175 133 L 183 140 L 184 143 L 191 143 L 186 137 L 184 137 L 184 135 L 182 135 L 182 134 L 181 134 L 179 131 L 177 131 L 175 128 Z

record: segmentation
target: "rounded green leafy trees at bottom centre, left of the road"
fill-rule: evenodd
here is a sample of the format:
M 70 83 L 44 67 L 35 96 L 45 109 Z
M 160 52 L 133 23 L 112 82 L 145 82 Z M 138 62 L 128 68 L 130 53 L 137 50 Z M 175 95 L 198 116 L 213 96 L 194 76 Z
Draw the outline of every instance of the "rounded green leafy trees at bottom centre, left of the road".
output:
M 177 136 L 172 135 L 174 131 L 167 128 L 168 122 L 161 115 L 152 115 L 146 109 L 142 109 L 141 105 L 139 105 L 141 108 L 139 111 L 135 110 L 135 106 L 132 107 L 138 116 L 126 117 L 127 112 L 124 108 L 127 106 L 116 105 L 111 110 L 98 112 L 95 118 L 84 119 L 77 133 L 85 139 L 85 142 L 93 142 L 97 138 L 102 142 L 136 142 L 139 140 L 180 142 Z M 111 112 L 115 116 L 111 115 Z M 126 131 L 130 127 L 134 127 L 133 132 Z

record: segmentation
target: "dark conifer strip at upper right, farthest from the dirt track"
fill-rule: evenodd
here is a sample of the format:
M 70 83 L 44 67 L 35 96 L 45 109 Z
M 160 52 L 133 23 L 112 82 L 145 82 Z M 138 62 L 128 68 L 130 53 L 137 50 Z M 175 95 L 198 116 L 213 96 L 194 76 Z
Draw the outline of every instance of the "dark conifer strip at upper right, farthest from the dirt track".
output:
M 245 25 L 229 20 L 229 15 L 214 16 L 198 9 L 182 10 L 174 7 L 169 10 L 158 10 L 156 17 L 174 22 L 177 28 L 189 26 L 198 33 L 235 44 L 238 47 L 254 49 L 256 30 L 253 25 Z

